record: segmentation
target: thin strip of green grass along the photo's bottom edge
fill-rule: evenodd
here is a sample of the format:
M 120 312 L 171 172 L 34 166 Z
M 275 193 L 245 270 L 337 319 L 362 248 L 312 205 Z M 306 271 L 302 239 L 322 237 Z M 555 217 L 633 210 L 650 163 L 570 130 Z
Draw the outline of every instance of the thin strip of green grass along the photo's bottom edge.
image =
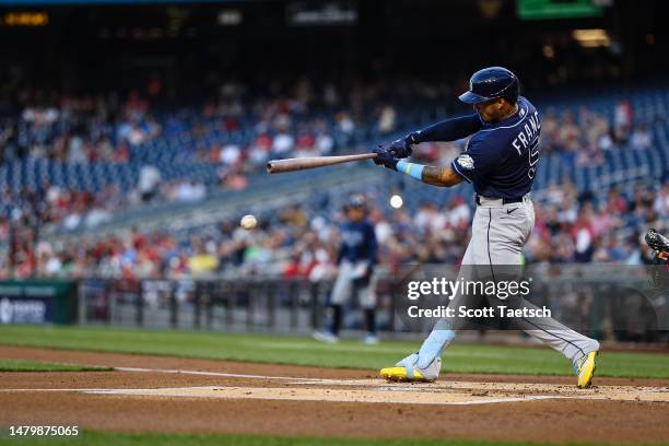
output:
M 0 436 L 0 439 L 2 437 Z M 5 437 L 7 438 L 7 437 Z M 10 441 L 11 442 L 11 441 Z M 260 435 L 193 435 L 193 434 L 120 434 L 84 432 L 79 437 L 52 437 L 22 439 L 22 445 L 162 445 L 162 446 L 524 446 L 538 445 L 527 442 L 486 442 L 472 439 L 368 439 L 368 438 L 308 438 Z M 8 444 L 11 444 L 8 442 Z M 545 444 L 545 443 L 543 443 Z M 571 445 L 596 445 L 597 443 L 570 443 Z

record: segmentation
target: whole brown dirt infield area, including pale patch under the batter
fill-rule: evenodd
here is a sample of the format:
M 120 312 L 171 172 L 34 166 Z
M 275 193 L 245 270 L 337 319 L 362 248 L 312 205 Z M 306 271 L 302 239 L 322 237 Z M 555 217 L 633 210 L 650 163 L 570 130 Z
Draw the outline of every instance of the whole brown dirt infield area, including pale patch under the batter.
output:
M 122 432 L 666 442 L 669 382 L 373 372 L 0 347 L 0 357 L 115 367 L 0 373 L 0 425 Z

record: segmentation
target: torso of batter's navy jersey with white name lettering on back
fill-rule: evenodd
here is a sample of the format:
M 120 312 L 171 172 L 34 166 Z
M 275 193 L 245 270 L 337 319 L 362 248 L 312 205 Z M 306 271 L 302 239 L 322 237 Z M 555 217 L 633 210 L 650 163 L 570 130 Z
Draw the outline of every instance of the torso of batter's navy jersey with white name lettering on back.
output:
M 483 124 L 451 167 L 488 198 L 519 198 L 532 188 L 539 161 L 541 121 L 535 106 L 518 97 L 518 110 Z

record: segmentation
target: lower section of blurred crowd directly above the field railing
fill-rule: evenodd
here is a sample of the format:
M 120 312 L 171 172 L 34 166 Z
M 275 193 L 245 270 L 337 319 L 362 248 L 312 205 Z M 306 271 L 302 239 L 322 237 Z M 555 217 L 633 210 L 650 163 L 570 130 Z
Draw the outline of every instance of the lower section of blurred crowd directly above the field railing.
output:
M 375 192 L 369 198 L 377 197 Z M 371 206 L 369 219 L 380 243 L 379 260 L 389 271 L 414 261 L 457 263 L 465 254 L 472 209 L 460 197 L 447 206 L 423 203 L 418 213 L 384 212 Z M 638 187 L 631 196 L 611 191 L 603 201 L 575 197 L 565 183 L 537 203 L 529 262 L 645 263 L 646 227 L 665 227 L 669 185 L 655 191 Z M 334 273 L 340 210 L 297 206 L 280 211 L 254 232 L 223 222 L 203 234 L 133 231 L 125 236 L 74 245 L 22 240 L 19 277 L 206 278 L 211 274 L 270 274 L 317 281 Z M 7 223 L 0 235 L 8 236 Z M 34 247 L 34 248 L 33 248 Z M 8 274 L 8 265 L 1 273 Z

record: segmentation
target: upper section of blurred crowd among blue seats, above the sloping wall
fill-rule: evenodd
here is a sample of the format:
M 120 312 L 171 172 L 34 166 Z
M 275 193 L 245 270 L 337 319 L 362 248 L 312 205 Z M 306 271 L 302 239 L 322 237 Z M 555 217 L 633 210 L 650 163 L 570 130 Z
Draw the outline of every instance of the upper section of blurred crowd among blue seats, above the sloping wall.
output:
M 160 90 L 155 81 L 142 95 L 126 97 L 21 90 L 5 98 L 3 216 L 74 228 L 148 201 L 197 201 L 212 189 L 246 188 L 248 175 L 272 157 L 368 150 L 399 130 L 445 116 L 450 110 L 444 104 L 453 102 L 446 85 L 418 81 L 316 89 L 302 80 L 253 95 L 228 83 L 218 99 L 180 108 L 161 106 Z M 543 118 L 543 154 L 561 153 L 577 165 L 601 164 L 606 152 L 619 148 L 652 144 L 624 99 L 613 119 L 586 106 L 549 108 Z M 425 144 L 421 154 L 435 162 L 451 153 Z

